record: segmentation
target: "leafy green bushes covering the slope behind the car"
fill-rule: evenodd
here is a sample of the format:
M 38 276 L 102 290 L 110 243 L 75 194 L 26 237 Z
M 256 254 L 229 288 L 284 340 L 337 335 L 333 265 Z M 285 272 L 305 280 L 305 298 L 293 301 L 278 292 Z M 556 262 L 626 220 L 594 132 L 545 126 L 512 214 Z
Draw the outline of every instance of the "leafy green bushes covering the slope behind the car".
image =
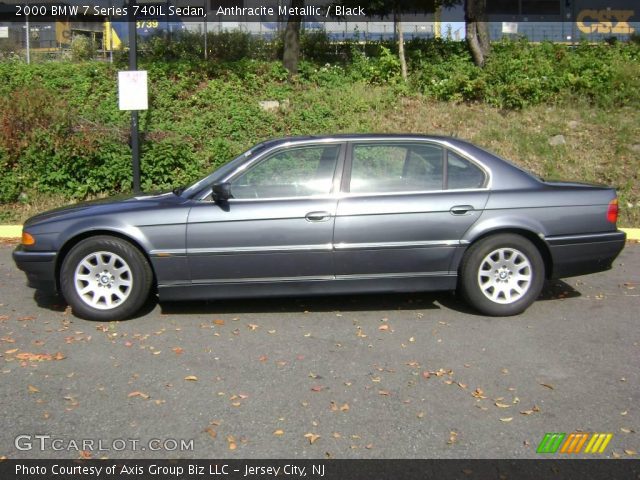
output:
M 633 42 L 502 41 L 481 69 L 463 42 L 410 40 L 405 87 L 393 42 L 336 45 L 305 34 L 300 74 L 289 81 L 281 62 L 267 59 L 278 40 L 210 33 L 212 57 L 204 61 L 202 36 L 180 35 L 184 43 L 176 36 L 143 42 L 140 68 L 150 85 L 149 110 L 140 113 L 141 160 L 149 190 L 188 183 L 265 138 L 376 130 L 375 112 L 395 108 L 400 94 L 502 109 L 576 98 L 605 109 L 640 107 L 640 45 Z M 247 52 L 263 58 L 238 59 Z M 130 190 L 130 115 L 117 108 L 121 68 L 0 62 L 0 202 L 34 189 L 74 198 Z M 282 107 L 265 112 L 261 100 Z

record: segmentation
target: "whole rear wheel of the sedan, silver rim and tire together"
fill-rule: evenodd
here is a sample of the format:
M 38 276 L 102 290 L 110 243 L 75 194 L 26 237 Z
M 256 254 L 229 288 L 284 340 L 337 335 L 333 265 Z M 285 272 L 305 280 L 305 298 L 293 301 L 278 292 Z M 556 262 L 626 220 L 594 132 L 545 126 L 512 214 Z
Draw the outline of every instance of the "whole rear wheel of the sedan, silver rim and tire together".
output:
M 537 247 L 516 234 L 498 234 L 474 243 L 460 266 L 459 290 L 485 315 L 524 312 L 540 295 L 545 267 Z

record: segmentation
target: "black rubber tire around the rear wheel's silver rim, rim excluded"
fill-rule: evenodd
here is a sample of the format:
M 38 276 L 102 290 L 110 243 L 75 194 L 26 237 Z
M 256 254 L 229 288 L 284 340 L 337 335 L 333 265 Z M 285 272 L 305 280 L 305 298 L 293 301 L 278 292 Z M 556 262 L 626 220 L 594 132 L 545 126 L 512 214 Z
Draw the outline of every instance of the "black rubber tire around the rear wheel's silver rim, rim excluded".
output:
M 519 250 L 531 264 L 529 290 L 522 298 L 508 305 L 488 299 L 478 284 L 481 262 L 489 253 L 499 248 Z M 460 287 L 467 303 L 486 315 L 502 317 L 522 313 L 538 298 L 544 285 L 545 267 L 540 251 L 531 241 L 516 234 L 498 234 L 484 238 L 469 248 L 463 258 L 460 275 Z

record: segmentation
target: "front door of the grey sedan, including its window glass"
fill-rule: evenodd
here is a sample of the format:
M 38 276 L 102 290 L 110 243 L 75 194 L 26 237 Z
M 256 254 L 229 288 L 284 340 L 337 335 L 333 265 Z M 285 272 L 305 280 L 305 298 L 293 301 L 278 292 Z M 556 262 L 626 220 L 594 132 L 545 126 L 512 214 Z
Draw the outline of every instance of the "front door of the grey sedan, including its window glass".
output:
M 342 144 L 267 153 L 231 179 L 227 202 L 203 201 L 189 214 L 193 283 L 329 279 Z

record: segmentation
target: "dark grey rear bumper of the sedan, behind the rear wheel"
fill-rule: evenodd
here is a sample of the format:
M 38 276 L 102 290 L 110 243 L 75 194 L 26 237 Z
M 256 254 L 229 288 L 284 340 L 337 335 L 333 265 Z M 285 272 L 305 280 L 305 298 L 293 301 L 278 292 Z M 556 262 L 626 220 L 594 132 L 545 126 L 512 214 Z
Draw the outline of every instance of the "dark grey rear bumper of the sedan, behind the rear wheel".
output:
M 609 270 L 624 248 L 627 235 L 616 232 L 547 237 L 553 261 L 552 278 Z

